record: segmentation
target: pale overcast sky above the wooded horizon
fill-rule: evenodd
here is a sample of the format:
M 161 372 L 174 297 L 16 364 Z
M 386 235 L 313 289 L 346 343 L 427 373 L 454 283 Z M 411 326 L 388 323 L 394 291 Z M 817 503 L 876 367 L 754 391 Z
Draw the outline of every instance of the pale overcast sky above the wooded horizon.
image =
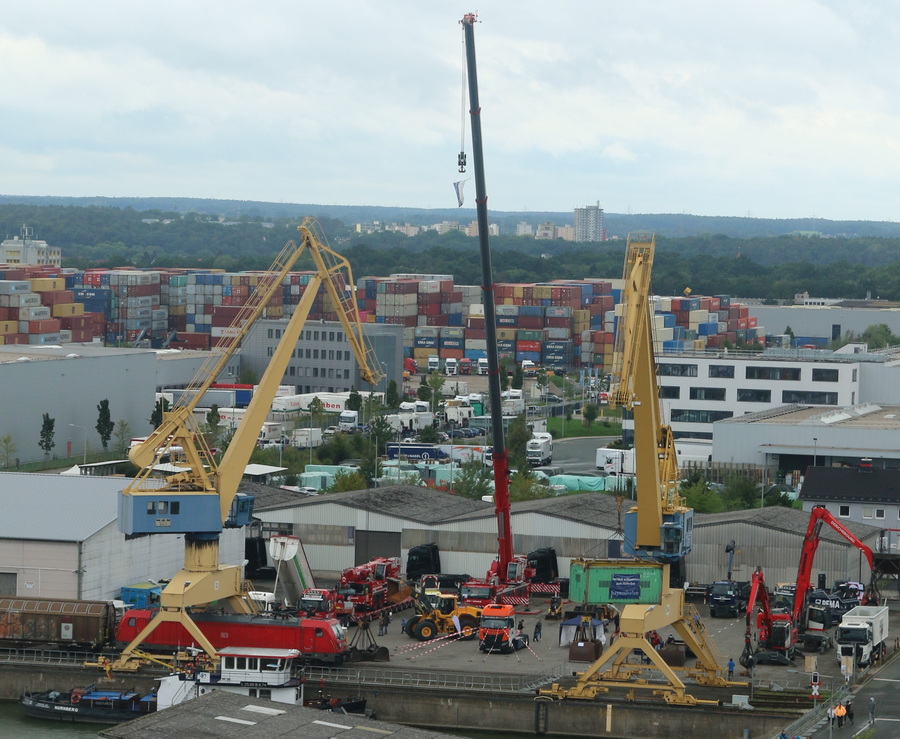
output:
M 453 207 L 443 0 L 4 0 L 0 192 Z M 493 0 L 491 210 L 900 220 L 893 3 Z M 474 180 L 466 184 L 474 204 Z

